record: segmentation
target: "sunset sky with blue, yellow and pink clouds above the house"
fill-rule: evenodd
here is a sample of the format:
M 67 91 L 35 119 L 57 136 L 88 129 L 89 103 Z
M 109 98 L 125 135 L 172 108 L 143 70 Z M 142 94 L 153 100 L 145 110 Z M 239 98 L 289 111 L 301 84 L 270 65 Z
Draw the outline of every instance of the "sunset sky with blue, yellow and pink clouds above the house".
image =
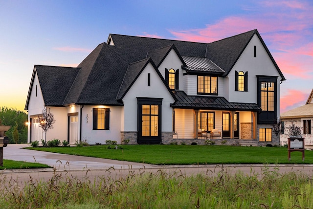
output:
M 110 33 L 210 43 L 253 29 L 287 79 L 280 113 L 304 105 L 312 0 L 0 0 L 0 107 L 23 111 L 34 65 L 77 67 Z

